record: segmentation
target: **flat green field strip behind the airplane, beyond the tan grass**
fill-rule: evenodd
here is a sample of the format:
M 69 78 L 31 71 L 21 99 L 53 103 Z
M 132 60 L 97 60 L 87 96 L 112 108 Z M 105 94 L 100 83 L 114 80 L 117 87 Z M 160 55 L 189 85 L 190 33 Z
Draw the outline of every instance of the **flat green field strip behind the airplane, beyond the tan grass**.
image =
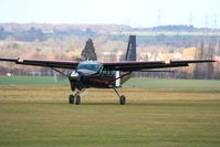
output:
M 65 77 L 50 76 L 0 76 L 1 85 L 66 85 Z M 219 80 L 157 80 L 157 78 L 130 78 L 124 87 L 220 87 Z

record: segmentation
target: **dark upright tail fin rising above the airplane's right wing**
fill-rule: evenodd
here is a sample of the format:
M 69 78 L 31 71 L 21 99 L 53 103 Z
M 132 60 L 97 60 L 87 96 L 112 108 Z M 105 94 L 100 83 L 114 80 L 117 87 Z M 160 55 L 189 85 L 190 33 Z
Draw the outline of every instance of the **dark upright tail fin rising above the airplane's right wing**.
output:
M 136 61 L 136 35 L 129 35 L 125 61 Z

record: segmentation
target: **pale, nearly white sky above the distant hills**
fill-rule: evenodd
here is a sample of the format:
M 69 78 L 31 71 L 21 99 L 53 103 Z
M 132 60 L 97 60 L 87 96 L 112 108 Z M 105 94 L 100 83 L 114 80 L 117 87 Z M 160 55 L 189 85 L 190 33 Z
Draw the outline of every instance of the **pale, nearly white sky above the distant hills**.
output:
M 0 23 L 220 28 L 220 0 L 0 0 Z

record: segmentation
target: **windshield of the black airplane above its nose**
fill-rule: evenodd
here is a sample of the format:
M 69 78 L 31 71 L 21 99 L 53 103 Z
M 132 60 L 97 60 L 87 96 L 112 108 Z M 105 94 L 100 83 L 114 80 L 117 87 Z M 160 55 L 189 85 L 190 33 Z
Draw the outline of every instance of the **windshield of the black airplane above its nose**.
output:
M 94 72 L 98 72 L 102 69 L 103 64 L 97 63 L 97 62 L 82 62 L 78 64 L 77 66 L 77 71 L 78 70 L 90 70 L 90 71 L 94 71 Z

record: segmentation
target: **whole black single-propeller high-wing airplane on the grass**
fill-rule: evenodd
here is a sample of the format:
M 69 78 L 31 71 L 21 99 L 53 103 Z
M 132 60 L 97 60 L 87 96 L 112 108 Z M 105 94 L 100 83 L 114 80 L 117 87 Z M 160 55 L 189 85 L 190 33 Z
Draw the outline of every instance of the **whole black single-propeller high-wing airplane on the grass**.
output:
M 136 35 L 129 35 L 125 61 L 97 62 L 97 61 L 53 61 L 53 60 L 23 60 L 0 59 L 4 62 L 17 64 L 46 66 L 65 75 L 57 69 L 73 70 L 69 75 L 71 90 L 76 93 L 69 96 L 70 104 L 81 104 L 80 94 L 85 88 L 113 88 L 119 97 L 119 104 L 126 103 L 126 97 L 117 91 L 132 76 L 133 72 L 167 72 L 166 67 L 188 66 L 190 63 L 218 62 L 218 60 L 179 60 L 179 61 L 136 61 Z

